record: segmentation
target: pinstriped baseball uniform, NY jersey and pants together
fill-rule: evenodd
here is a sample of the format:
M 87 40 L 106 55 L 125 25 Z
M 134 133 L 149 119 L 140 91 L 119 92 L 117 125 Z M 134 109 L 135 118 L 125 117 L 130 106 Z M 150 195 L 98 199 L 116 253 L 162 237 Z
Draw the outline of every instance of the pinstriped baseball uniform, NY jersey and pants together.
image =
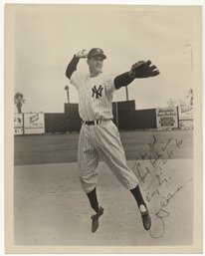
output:
M 98 182 L 100 156 L 117 179 L 128 189 L 138 184 L 133 171 L 128 168 L 118 129 L 112 123 L 112 95 L 115 76 L 97 77 L 75 71 L 71 77 L 79 93 L 79 113 L 83 121 L 102 121 L 101 124 L 83 124 L 79 137 L 79 173 L 86 193 L 95 189 Z

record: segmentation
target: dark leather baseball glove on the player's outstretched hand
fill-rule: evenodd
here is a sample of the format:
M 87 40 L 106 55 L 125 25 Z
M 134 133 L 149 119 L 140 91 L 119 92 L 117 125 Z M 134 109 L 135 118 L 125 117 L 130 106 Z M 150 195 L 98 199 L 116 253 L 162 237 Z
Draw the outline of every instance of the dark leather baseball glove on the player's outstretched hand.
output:
M 132 65 L 129 76 L 131 78 L 149 78 L 159 75 L 159 71 L 155 65 L 151 65 L 150 61 L 139 61 Z

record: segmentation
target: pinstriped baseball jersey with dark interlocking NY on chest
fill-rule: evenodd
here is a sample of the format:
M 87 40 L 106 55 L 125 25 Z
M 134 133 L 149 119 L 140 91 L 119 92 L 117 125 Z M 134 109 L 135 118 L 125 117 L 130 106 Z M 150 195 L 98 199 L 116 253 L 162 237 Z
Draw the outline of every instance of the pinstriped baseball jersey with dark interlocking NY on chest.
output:
M 70 82 L 79 93 L 79 114 L 84 121 L 110 120 L 112 116 L 112 96 L 115 91 L 115 76 L 97 77 L 75 71 Z

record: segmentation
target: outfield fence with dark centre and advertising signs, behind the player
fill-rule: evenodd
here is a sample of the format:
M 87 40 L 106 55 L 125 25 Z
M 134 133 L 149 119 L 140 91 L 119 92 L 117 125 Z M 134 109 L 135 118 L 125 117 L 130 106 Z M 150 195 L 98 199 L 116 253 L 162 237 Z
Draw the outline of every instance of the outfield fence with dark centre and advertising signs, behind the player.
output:
M 80 131 L 78 104 L 65 104 L 65 113 L 14 114 L 14 134 Z M 193 106 L 135 110 L 135 102 L 112 103 L 113 123 L 119 130 L 193 129 Z

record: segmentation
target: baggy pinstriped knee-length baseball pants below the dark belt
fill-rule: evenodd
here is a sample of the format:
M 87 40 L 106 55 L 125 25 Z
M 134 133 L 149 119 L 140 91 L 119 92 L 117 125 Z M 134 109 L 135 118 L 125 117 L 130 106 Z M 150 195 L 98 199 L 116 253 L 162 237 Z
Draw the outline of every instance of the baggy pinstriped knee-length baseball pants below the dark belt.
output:
M 129 190 L 136 187 L 139 181 L 126 164 L 118 129 L 112 121 L 103 121 L 103 124 L 94 126 L 84 124 L 80 131 L 79 175 L 86 193 L 97 186 L 101 156 L 123 186 Z

